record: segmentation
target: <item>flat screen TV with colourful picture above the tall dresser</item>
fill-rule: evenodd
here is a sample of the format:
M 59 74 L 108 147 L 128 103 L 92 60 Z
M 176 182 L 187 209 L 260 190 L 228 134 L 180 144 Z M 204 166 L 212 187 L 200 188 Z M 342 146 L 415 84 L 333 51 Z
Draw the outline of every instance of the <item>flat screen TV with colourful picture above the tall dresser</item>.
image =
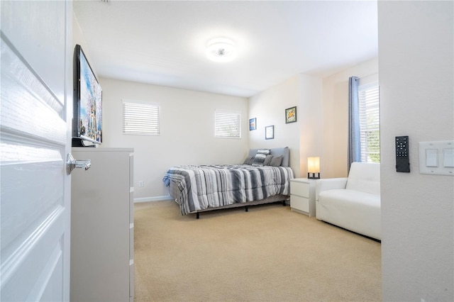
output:
M 74 48 L 72 146 L 102 142 L 102 89 L 80 45 Z

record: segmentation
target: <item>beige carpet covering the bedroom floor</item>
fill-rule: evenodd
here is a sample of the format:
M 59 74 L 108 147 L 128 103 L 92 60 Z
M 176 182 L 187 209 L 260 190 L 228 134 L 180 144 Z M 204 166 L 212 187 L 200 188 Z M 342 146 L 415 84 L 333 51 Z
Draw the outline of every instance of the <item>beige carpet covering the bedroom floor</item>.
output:
M 381 301 L 380 242 L 273 203 L 135 204 L 135 301 Z

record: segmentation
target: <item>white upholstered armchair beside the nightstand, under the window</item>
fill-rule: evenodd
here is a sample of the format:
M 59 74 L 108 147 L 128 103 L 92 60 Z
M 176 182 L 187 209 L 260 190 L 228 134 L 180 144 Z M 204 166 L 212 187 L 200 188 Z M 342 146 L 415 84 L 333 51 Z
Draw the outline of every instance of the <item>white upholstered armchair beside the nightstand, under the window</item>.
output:
M 317 180 L 316 218 L 381 240 L 380 164 L 353 162 L 348 177 Z

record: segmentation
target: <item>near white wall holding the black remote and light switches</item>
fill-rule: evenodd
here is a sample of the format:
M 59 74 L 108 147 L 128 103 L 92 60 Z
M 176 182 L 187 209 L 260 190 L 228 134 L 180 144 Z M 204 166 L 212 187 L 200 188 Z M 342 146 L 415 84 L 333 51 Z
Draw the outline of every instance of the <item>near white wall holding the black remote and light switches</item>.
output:
M 418 162 L 418 142 L 454 140 L 453 9 L 378 4 L 384 301 L 454 301 L 454 178 L 419 174 Z M 409 174 L 394 168 L 398 135 L 409 135 Z

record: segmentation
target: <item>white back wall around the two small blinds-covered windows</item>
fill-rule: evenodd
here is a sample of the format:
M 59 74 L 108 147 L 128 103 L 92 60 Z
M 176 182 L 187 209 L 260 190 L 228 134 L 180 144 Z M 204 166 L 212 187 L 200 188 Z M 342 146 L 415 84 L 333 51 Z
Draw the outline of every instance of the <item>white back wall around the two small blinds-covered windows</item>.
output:
M 99 79 L 103 144 L 134 148 L 134 198 L 160 198 L 165 172 L 177 164 L 238 164 L 249 150 L 248 99 L 172 87 Z M 124 135 L 122 99 L 160 104 L 159 136 Z M 241 139 L 214 138 L 214 111 L 241 113 Z M 138 181 L 144 181 L 143 187 Z

